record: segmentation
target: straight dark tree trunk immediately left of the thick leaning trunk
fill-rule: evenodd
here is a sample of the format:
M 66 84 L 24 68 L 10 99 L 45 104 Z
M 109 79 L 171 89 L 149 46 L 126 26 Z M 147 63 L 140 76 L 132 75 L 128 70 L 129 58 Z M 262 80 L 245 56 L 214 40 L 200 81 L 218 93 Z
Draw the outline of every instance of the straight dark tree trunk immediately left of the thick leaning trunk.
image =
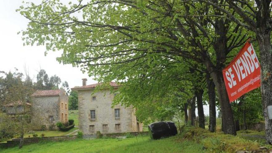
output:
M 215 83 L 210 79 L 210 74 L 206 74 L 209 96 L 209 131 L 215 132 L 216 128 L 216 106 L 215 106 Z

